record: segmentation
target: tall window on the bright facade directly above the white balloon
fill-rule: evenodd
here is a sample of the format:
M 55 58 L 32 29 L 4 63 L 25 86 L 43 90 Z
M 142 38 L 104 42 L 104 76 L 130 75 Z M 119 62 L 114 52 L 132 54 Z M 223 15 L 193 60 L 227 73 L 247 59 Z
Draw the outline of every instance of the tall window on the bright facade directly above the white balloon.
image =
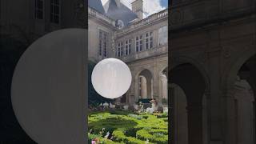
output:
M 98 55 L 107 56 L 107 33 L 99 30 Z

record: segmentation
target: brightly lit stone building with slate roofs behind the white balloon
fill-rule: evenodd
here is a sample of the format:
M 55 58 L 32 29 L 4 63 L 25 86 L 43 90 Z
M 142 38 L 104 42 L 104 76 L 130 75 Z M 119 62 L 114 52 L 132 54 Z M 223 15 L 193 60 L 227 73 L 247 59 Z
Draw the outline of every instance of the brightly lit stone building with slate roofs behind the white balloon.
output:
M 138 98 L 153 97 L 167 102 L 168 10 L 143 19 L 142 0 L 131 3 L 132 10 L 110 0 L 103 6 L 105 14 L 96 2 L 89 1 L 88 9 L 90 60 L 119 58 L 132 73 L 130 90 L 117 102 L 134 104 Z

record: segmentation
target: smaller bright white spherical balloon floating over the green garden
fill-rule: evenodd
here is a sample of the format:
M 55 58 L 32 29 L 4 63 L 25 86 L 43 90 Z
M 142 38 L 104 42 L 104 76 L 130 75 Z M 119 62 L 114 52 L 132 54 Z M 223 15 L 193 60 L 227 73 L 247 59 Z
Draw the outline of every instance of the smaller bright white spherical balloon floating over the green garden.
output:
M 91 80 L 102 97 L 118 98 L 129 90 L 131 73 L 126 63 L 116 58 L 106 58 L 94 67 Z

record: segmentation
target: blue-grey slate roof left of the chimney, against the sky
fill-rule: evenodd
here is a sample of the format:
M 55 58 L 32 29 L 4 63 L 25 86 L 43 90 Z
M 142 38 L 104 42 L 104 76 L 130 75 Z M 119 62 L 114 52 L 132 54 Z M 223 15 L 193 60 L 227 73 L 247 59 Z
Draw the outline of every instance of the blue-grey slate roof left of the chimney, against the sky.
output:
M 122 20 L 125 26 L 129 24 L 129 22 L 138 18 L 137 14 L 134 14 L 132 10 L 130 10 L 127 6 L 120 3 L 118 7 L 114 0 L 109 0 L 104 5 L 104 9 L 106 11 L 106 15 L 114 20 Z

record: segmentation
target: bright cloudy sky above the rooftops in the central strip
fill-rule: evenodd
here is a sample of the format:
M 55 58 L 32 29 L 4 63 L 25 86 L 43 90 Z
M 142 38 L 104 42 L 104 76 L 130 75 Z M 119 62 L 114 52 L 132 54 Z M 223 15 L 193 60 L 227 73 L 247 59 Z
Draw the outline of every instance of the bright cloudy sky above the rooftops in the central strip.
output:
M 108 0 L 102 0 L 102 4 L 104 5 L 107 1 Z M 134 0 L 121 0 L 121 2 L 131 9 L 130 3 L 134 2 Z M 143 2 L 145 11 L 144 18 L 164 10 L 168 6 L 168 0 L 143 0 Z

